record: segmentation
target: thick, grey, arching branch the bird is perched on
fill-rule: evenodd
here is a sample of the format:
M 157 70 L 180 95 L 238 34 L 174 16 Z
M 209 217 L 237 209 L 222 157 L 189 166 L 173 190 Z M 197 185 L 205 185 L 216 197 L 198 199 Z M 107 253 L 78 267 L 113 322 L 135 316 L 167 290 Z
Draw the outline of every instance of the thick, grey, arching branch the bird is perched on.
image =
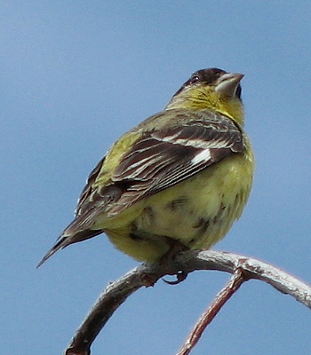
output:
M 232 274 L 240 270 L 243 272 L 243 280 L 265 281 L 311 309 L 311 287 L 271 264 L 233 253 L 188 250 L 176 256 L 173 264 L 165 264 L 165 266 L 141 264 L 119 280 L 109 284 L 76 330 L 76 335 L 70 341 L 65 355 L 90 355 L 92 342 L 102 327 L 126 298 L 137 289 L 153 286 L 157 280 L 167 274 L 176 275 L 180 271 L 194 272 L 195 270 L 217 270 Z

